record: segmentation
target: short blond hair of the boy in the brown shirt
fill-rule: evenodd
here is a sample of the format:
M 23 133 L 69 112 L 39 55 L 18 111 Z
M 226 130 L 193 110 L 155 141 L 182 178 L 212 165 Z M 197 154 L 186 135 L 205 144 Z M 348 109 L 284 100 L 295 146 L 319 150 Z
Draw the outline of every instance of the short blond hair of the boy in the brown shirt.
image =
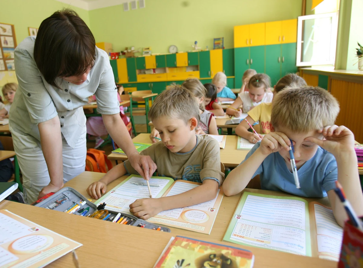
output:
M 169 119 L 181 119 L 185 123 L 195 117 L 199 123 L 198 102 L 188 89 L 173 83 L 168 90 L 164 90 L 155 98 L 148 119 L 152 121 L 162 116 Z

